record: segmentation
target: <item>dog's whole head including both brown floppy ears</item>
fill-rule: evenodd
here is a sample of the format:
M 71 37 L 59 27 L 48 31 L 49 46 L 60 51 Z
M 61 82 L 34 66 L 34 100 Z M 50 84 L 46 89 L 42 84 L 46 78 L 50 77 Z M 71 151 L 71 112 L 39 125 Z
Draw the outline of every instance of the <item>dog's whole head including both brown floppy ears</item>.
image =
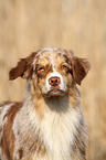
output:
M 86 58 L 74 56 L 63 49 L 43 49 L 22 58 L 10 73 L 10 79 L 21 76 L 34 83 L 42 95 L 64 96 L 82 79 L 89 70 Z

